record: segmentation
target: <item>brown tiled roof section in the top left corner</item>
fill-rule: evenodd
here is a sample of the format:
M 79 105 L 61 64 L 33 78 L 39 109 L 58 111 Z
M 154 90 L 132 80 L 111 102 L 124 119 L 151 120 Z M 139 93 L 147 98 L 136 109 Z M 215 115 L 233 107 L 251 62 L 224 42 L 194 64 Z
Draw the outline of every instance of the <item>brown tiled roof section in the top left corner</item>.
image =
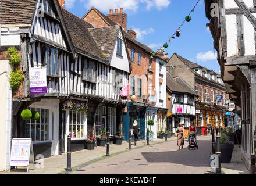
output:
M 31 24 L 37 0 L 1 0 L 0 24 Z

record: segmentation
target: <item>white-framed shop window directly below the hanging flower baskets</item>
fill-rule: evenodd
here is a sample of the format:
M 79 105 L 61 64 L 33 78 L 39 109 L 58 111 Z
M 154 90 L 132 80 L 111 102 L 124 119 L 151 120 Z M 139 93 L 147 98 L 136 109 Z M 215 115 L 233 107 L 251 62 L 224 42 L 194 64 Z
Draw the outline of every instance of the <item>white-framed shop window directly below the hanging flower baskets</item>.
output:
M 86 113 L 78 111 L 69 111 L 69 131 L 72 138 L 84 137 L 84 124 L 86 123 Z

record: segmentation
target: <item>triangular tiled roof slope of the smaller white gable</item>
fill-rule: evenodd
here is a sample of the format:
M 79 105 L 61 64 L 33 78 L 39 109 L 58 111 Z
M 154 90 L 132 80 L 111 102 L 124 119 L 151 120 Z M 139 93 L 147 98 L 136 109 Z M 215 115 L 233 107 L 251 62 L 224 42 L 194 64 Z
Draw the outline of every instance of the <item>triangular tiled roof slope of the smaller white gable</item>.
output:
M 93 35 L 98 47 L 101 49 L 106 59 L 112 55 L 113 49 L 116 45 L 116 38 L 121 26 L 109 26 L 103 28 L 90 28 L 89 31 Z

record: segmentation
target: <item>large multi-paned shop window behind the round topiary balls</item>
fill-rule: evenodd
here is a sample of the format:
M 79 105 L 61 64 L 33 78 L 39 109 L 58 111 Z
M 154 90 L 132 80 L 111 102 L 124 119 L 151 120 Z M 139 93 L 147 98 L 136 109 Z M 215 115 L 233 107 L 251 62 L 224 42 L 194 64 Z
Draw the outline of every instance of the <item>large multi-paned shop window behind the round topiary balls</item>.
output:
M 26 122 L 25 136 L 32 141 L 47 141 L 49 139 L 49 110 L 41 108 L 29 108 L 31 111 L 37 111 L 40 119 L 37 121 L 29 120 Z

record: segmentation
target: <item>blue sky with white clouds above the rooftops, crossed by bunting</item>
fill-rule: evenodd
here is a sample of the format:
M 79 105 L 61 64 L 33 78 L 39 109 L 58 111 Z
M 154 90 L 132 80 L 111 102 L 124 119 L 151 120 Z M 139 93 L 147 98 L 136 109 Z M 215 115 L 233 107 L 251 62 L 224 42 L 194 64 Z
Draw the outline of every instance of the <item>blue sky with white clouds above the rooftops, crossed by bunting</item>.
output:
M 78 17 L 95 6 L 107 14 L 109 9 L 124 8 L 127 29 L 137 31 L 137 40 L 155 51 L 168 41 L 183 22 L 197 0 L 66 0 L 65 8 Z M 192 62 L 219 70 L 211 33 L 205 17 L 204 0 L 191 14 L 192 20 L 181 28 L 180 37 L 169 43 L 165 53 L 176 52 Z M 219 72 L 219 71 L 216 71 Z

